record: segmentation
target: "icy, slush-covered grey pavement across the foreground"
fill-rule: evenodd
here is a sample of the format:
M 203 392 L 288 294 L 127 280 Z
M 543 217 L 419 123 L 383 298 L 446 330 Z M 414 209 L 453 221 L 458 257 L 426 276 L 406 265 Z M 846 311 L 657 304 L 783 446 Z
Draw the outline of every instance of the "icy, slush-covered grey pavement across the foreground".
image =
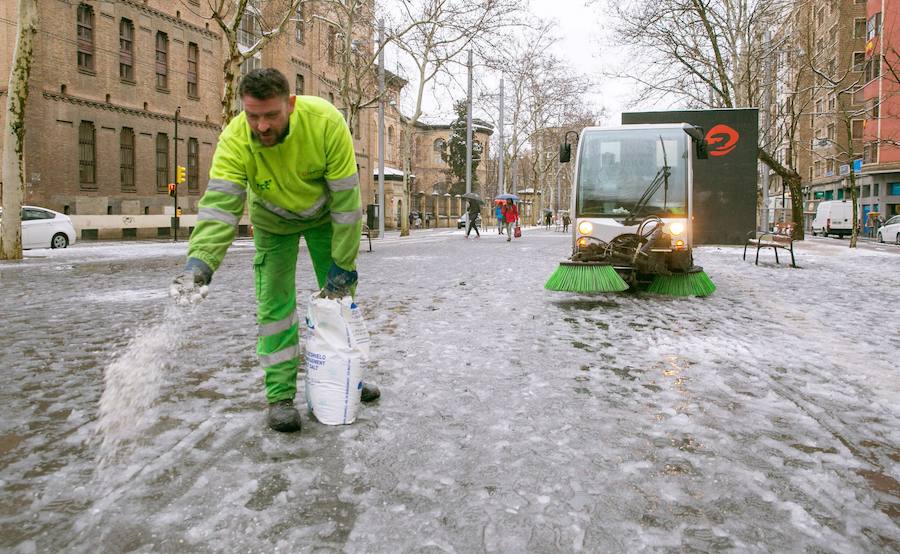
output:
M 0 265 L 0 550 L 900 549 L 900 249 L 702 248 L 680 299 L 543 290 L 549 231 L 374 243 L 382 399 L 300 435 L 265 427 L 252 243 L 193 311 L 183 243 Z

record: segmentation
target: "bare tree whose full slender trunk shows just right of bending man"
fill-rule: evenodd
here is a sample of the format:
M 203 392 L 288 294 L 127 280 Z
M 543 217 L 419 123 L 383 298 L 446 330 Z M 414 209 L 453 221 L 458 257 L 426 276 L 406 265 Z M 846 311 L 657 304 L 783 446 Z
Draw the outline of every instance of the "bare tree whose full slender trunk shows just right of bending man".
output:
M 401 21 L 410 28 L 397 45 L 414 66 L 416 83 L 412 115 L 405 119 L 403 133 L 403 202 L 400 235 L 409 235 L 409 171 L 415 125 L 422 116 L 425 90 L 438 75 L 458 64 L 469 48 L 484 50 L 501 30 L 518 24 L 519 3 L 515 0 L 409 0 L 402 3 Z

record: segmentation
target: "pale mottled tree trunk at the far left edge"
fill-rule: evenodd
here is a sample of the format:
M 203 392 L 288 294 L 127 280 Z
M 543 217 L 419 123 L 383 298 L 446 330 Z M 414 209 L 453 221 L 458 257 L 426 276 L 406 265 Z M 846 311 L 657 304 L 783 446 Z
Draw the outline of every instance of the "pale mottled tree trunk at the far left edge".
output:
M 4 217 L 0 223 L 0 260 L 22 259 L 21 209 L 25 198 L 25 105 L 34 54 L 38 11 L 36 0 L 19 0 L 16 46 L 6 97 L 3 129 Z

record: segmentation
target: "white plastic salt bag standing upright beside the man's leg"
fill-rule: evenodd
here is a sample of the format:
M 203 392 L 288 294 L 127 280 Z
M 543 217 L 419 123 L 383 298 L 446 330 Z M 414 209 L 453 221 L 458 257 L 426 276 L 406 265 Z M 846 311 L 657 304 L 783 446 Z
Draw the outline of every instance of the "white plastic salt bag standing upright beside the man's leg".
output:
M 326 425 L 353 423 L 369 359 L 362 311 L 350 296 L 321 298 L 317 292 L 309 298 L 306 327 L 306 404 Z

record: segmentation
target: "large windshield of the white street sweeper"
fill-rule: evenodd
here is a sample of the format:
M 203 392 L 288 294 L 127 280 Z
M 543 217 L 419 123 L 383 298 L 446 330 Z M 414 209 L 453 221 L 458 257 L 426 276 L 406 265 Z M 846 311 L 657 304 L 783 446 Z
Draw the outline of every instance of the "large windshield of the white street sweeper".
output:
M 599 130 L 584 133 L 581 140 L 579 217 L 687 215 L 690 137 L 683 130 Z M 639 201 L 654 188 L 641 207 Z

